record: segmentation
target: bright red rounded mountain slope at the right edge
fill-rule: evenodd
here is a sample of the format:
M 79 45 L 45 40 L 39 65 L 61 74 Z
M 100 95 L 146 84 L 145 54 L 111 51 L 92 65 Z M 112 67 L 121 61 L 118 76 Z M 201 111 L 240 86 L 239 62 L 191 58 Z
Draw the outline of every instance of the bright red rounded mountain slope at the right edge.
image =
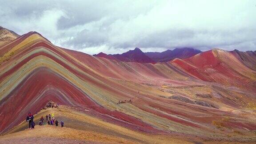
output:
M 204 81 L 256 90 L 256 72 L 228 51 L 213 49 L 184 60 L 175 59 L 171 63 Z

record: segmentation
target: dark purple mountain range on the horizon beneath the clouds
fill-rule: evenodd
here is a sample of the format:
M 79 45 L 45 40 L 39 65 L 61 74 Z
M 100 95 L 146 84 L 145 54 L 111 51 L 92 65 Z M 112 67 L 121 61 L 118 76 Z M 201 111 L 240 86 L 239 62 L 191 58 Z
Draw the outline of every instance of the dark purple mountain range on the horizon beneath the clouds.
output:
M 139 63 L 156 63 L 167 62 L 176 58 L 188 58 L 200 53 L 200 50 L 194 48 L 175 48 L 174 50 L 167 50 L 164 52 L 142 52 L 140 48 L 135 48 L 122 54 L 107 55 L 100 52 L 97 57 L 104 57 L 111 60 L 120 60 L 124 62 L 139 62 Z

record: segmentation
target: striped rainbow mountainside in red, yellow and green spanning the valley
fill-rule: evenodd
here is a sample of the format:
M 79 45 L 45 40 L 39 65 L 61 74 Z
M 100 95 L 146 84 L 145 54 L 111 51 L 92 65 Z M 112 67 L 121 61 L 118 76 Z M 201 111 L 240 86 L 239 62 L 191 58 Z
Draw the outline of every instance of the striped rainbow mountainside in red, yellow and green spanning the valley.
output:
M 81 124 L 104 121 L 99 128 L 132 143 L 144 136 L 152 137 L 148 143 L 256 142 L 255 62 L 256 51 L 222 49 L 124 62 L 60 48 L 28 32 L 0 45 L 0 134 L 26 132 L 27 113 L 43 116 L 40 109 L 52 100 L 69 112 L 62 116 L 66 123 L 74 113 L 90 118 Z

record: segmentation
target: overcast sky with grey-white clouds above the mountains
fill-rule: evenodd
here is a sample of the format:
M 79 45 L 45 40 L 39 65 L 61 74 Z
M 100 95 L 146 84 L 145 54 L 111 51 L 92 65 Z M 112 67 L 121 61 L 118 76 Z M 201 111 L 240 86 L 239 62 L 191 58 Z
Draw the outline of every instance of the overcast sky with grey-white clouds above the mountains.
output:
M 88 54 L 256 50 L 256 0 L 1 0 L 0 26 Z

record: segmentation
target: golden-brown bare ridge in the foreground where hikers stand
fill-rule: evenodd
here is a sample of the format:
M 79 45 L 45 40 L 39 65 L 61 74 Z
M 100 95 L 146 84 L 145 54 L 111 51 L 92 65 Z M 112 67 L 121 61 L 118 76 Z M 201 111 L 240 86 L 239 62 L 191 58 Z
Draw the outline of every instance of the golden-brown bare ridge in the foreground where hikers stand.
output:
M 66 106 L 60 108 L 48 108 L 34 115 L 35 123 L 41 116 L 54 113 L 55 118 L 60 122 L 64 120 L 64 127 L 50 126 L 48 124 L 35 129 L 28 129 L 28 124 L 22 122 L 13 128 L 8 134 L 0 137 L 2 143 L 195 143 L 182 137 L 149 135 L 132 131 L 121 126 L 105 122 L 104 120 L 88 116 Z M 191 141 L 191 142 L 190 142 Z

